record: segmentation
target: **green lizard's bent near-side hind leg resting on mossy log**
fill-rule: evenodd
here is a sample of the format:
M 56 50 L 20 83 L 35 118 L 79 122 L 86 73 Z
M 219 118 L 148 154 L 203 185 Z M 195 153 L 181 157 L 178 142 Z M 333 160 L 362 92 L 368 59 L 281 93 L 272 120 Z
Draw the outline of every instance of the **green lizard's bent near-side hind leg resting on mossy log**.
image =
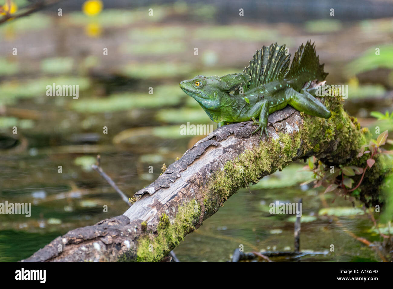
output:
M 302 111 L 312 116 L 320 118 L 330 118 L 331 112 L 319 101 L 314 98 L 307 91 L 302 90 L 303 93 L 297 92 L 293 88 L 288 88 L 285 93 L 288 99 L 288 104 L 293 108 Z

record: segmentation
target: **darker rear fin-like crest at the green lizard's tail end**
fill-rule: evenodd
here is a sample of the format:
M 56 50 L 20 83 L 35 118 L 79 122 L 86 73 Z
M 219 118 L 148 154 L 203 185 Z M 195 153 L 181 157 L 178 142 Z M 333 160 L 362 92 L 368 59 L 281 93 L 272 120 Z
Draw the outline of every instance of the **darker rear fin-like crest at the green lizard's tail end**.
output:
M 323 71 L 325 64 L 319 63 L 319 55 L 317 56 L 316 54 L 314 43 L 311 44 L 309 40 L 306 45 L 301 44 L 298 51 L 295 52 L 287 76 L 296 77 L 301 72 L 309 72 L 314 74 L 314 79 L 318 79 L 318 81 L 325 80 L 328 73 Z

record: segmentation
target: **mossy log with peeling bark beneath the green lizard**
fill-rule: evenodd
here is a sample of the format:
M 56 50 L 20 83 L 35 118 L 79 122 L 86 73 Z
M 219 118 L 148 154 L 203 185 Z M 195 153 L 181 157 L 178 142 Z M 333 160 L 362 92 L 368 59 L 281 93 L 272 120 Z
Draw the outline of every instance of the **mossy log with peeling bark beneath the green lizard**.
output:
M 259 134 L 250 136 L 251 121 L 216 129 L 138 191 L 138 201 L 123 215 L 72 230 L 23 261 L 161 261 L 246 182 L 256 183 L 292 160 L 316 155 L 329 166 L 365 164 L 366 157 L 356 155 L 367 129 L 346 114 L 340 97 L 324 102 L 329 120 L 290 106 L 274 112 L 271 138 L 264 135 L 259 145 Z M 378 201 L 386 173 L 378 163 L 360 195 L 368 204 Z

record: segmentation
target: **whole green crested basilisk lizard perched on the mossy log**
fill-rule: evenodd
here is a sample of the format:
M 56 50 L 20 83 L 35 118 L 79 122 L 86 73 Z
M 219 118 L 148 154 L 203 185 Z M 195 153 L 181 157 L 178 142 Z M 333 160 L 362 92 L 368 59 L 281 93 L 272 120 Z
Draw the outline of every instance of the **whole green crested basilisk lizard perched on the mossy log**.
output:
M 323 81 L 327 76 L 314 44 L 302 44 L 291 66 L 289 62 L 285 45 L 275 43 L 258 50 L 242 73 L 197 75 L 180 82 L 180 88 L 198 101 L 218 127 L 253 120 L 253 125 L 258 125 L 253 134 L 261 130 L 261 136 L 263 131 L 268 136 L 269 114 L 286 105 L 312 116 L 330 118 L 331 112 L 314 97 L 315 90 L 309 89 L 311 81 Z

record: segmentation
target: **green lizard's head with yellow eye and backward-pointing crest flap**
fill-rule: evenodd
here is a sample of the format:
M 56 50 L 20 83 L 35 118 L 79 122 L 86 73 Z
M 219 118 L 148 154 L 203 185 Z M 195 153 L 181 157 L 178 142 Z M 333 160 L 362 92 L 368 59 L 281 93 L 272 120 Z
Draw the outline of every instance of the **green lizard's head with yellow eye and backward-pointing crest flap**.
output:
M 222 77 L 197 75 L 193 79 L 180 82 L 180 88 L 198 101 L 202 107 L 217 109 L 221 105 L 221 99 L 228 92 L 249 80 L 250 75 L 244 73 L 227 74 Z

